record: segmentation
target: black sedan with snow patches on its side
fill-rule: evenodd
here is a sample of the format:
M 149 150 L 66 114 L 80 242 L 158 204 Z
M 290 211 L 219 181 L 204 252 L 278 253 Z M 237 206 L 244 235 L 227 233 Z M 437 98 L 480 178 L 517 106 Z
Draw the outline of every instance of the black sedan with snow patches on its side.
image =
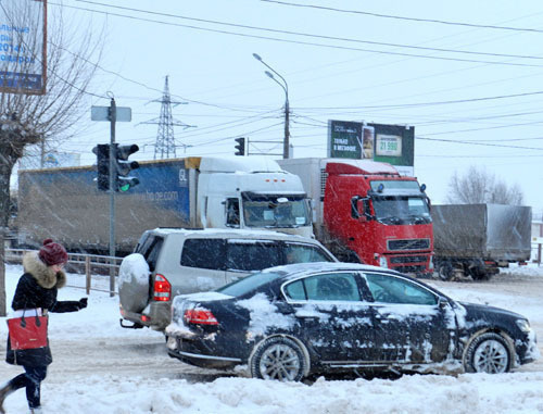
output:
M 519 314 L 348 263 L 274 267 L 177 297 L 166 335 L 173 357 L 279 380 L 353 369 L 495 374 L 539 356 Z

